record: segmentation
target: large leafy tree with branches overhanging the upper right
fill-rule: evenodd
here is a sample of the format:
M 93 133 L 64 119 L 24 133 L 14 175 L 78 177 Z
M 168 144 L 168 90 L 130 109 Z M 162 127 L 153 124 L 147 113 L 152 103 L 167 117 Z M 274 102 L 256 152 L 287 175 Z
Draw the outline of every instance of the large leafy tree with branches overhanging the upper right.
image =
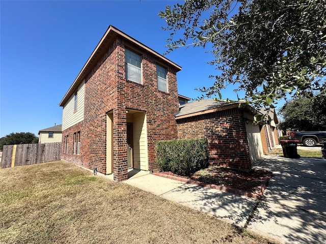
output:
M 324 0 L 188 0 L 159 13 L 170 31 L 168 51 L 212 46 L 210 62 L 220 75 L 205 96 L 238 84 L 239 101 L 275 107 L 288 94 L 326 94 L 326 2 Z

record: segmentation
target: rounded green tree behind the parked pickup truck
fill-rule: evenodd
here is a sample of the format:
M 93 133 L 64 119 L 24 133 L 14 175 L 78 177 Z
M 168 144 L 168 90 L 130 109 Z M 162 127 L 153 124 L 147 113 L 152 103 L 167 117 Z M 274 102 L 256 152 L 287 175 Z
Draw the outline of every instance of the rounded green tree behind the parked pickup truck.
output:
M 299 131 L 320 131 L 326 128 L 326 97 L 323 101 L 312 99 L 305 95 L 287 101 L 280 109 L 283 121 L 280 123 L 282 130 L 291 129 Z

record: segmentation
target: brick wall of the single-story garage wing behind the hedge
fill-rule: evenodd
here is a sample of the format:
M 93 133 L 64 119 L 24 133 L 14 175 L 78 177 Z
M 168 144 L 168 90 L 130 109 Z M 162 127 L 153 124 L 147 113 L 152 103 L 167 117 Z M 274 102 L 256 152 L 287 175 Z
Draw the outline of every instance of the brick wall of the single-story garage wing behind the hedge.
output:
M 240 109 L 177 119 L 179 138 L 207 138 L 209 164 L 250 170 L 246 124 Z

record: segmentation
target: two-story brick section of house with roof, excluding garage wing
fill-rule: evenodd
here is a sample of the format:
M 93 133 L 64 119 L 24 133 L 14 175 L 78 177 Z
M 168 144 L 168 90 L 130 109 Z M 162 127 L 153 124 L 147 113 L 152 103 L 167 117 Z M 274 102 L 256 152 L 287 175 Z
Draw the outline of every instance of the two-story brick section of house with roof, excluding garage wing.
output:
M 62 99 L 62 159 L 114 179 L 156 169 L 154 142 L 177 137 L 181 67 L 109 26 Z

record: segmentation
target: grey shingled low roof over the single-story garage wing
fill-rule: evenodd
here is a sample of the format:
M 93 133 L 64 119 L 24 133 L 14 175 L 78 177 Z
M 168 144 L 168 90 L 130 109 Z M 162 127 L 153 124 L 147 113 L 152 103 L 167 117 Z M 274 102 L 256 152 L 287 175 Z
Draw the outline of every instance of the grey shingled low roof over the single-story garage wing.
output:
M 175 114 L 176 119 L 196 116 L 205 113 L 212 113 L 225 109 L 238 107 L 238 103 L 228 103 L 215 100 L 198 100 L 179 106 L 179 112 Z

